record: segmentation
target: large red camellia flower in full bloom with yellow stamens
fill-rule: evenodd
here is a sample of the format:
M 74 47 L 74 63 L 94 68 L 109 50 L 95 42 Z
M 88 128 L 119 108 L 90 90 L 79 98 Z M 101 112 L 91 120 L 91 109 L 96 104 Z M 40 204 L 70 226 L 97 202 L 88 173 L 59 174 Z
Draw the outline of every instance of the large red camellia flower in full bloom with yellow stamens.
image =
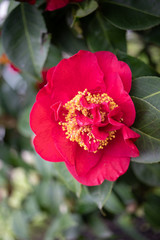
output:
M 80 51 L 47 73 L 30 114 L 37 153 L 84 185 L 116 180 L 139 151 L 131 71 L 111 52 Z

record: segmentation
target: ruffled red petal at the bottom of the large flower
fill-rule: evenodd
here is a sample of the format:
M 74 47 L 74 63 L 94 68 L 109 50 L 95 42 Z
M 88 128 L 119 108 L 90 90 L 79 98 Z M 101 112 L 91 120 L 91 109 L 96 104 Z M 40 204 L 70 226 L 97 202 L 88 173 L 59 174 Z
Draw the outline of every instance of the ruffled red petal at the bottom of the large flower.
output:
M 137 138 L 139 134 L 124 127 L 105 149 L 97 152 L 97 159 L 91 161 L 94 153 L 80 151 L 75 160 L 76 165 L 66 166 L 79 182 L 88 186 L 101 184 L 105 179 L 115 181 L 127 171 L 130 157 L 139 156 L 139 151 L 132 142 Z

